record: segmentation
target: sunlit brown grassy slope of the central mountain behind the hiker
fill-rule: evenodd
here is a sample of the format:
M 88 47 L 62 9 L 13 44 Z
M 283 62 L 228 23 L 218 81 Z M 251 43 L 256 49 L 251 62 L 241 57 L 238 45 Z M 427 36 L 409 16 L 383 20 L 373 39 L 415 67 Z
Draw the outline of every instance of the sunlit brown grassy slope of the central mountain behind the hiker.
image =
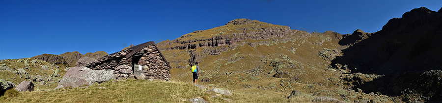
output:
M 201 67 L 198 82 L 209 87 L 228 88 L 239 94 L 273 93 L 267 97 L 284 99 L 293 90 L 299 90 L 310 96 L 332 97 L 349 103 L 391 102 L 388 96 L 382 94 L 352 90 L 346 85 L 348 81 L 340 77 L 350 71 L 331 67 L 331 60 L 345 55 L 340 51 L 347 46 L 338 43 L 342 39 L 341 34 L 298 30 L 281 34 L 277 30 L 284 30 L 287 26 L 251 22 L 239 25 L 228 23 L 158 43 L 167 61 L 176 67 L 171 69 L 171 80 L 191 82 L 189 64 L 197 61 Z M 241 32 L 245 34 L 237 34 Z M 217 45 L 229 39 L 236 43 Z M 198 47 L 206 42 L 217 44 Z

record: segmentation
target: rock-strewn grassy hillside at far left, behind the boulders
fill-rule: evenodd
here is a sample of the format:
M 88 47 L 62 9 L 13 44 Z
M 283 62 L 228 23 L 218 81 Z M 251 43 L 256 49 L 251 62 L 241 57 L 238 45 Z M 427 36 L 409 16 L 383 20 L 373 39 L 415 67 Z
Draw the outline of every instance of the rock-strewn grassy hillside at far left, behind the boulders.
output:
M 1 79 L 14 82 L 16 85 L 22 81 L 31 81 L 36 91 L 54 89 L 66 73 L 64 66 L 31 58 L 1 60 L 0 66 L 10 68 L 10 70 L 0 70 Z M 19 69 L 26 72 L 20 73 Z

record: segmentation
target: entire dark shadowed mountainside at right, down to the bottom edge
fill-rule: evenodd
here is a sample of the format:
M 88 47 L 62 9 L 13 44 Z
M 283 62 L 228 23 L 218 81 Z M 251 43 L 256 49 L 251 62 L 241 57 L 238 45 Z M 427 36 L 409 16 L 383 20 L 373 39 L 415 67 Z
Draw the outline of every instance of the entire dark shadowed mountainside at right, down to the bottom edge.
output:
M 405 102 L 441 101 L 441 11 L 416 8 L 389 20 L 381 31 L 346 35 L 339 44 L 351 46 L 332 64 L 348 65 L 352 73 L 382 75 L 363 84 L 353 82 L 354 89 L 399 96 Z M 354 80 L 361 79 L 349 81 Z

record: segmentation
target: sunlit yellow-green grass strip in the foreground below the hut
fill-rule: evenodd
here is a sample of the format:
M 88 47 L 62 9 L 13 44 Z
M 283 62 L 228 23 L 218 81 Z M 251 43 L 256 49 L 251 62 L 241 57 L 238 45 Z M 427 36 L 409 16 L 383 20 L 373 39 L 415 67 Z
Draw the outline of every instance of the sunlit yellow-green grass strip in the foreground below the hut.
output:
M 114 103 L 114 102 L 167 102 L 183 103 L 193 98 L 203 98 L 209 103 L 224 102 L 306 102 L 312 98 L 273 98 L 275 93 L 238 94 L 233 96 L 213 97 L 217 94 L 205 92 L 192 83 L 163 82 L 149 80 L 122 80 L 94 84 L 85 88 L 58 89 L 53 91 L 20 92 L 8 90 L 7 96 L 0 98 L 2 103 Z M 12 95 L 10 95 L 12 94 Z M 220 95 L 218 95 L 220 96 Z M 35 98 L 38 97 L 38 98 Z

